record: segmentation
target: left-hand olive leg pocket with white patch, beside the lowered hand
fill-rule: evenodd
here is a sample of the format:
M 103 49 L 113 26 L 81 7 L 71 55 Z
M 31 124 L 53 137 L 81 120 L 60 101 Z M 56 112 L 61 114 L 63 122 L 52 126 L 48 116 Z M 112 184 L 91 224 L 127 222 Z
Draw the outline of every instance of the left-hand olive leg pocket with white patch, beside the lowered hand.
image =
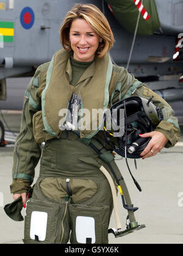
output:
M 54 203 L 46 200 L 30 199 L 27 201 L 24 223 L 25 244 L 61 243 L 63 234 L 69 236 L 68 224 L 63 225 L 68 218 L 68 202 Z M 65 239 L 66 240 L 66 239 Z

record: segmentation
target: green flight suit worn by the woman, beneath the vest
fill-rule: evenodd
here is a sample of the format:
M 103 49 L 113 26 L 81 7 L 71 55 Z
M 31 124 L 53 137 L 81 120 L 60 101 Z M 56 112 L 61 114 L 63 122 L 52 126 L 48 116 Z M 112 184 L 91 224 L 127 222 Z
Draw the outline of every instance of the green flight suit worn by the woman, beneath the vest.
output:
M 65 54 L 65 51 L 61 50 L 62 54 Z M 106 59 L 102 61 L 105 62 Z M 93 77 L 97 63 L 98 59 L 95 59 L 82 73 L 77 81 L 76 89 L 77 86 L 87 86 Z M 40 177 L 35 184 L 32 199 L 27 202 L 24 243 L 67 243 L 70 230 L 71 243 L 81 243 L 76 232 L 77 216 L 86 218 L 90 216 L 95 219 L 95 239 L 92 238 L 92 243 L 108 243 L 107 230 L 113 208 L 112 194 L 106 177 L 94 163 L 97 161 L 110 173 L 109 167 L 99 158 L 93 148 L 84 144 L 76 134 L 63 131 L 53 135 L 44 128 L 41 97 L 43 98 L 43 90 L 46 86 L 48 67 L 50 67 L 49 63 L 38 67 L 27 87 L 21 131 L 15 142 L 13 183 L 10 186 L 14 194 L 27 191 L 34 180 L 34 169 L 41 156 Z M 68 55 L 65 75 L 70 84 L 71 74 L 72 67 L 70 55 Z M 95 82 L 99 83 L 99 81 Z M 108 90 L 109 107 L 114 102 L 133 95 L 144 98 L 154 95 L 154 104 L 164 110 L 164 120 L 159 123 L 156 130 L 167 136 L 168 143 L 165 147 L 173 147 L 178 142 L 180 131 L 173 109 L 159 95 L 146 88 L 145 84 L 138 82 L 132 74 L 127 73 L 125 68 L 112 66 Z M 97 92 L 94 91 L 94 93 Z M 88 101 L 92 105 L 90 98 Z M 51 109 L 49 111 L 51 112 Z M 91 133 L 92 131 L 88 134 Z M 85 135 L 88 136 L 88 134 Z M 101 142 L 101 148 L 102 146 L 107 148 L 102 131 L 98 131 L 93 139 Z M 45 141 L 45 147 L 41 155 L 40 143 L 43 141 Z M 104 151 L 107 152 L 107 149 Z M 110 161 L 113 167 L 117 168 L 112 159 Z M 46 235 L 40 241 L 36 234 L 35 237 L 30 236 L 30 219 L 32 212 L 45 211 L 45 205 L 48 209 L 48 225 Z M 90 237 L 88 239 L 90 240 Z

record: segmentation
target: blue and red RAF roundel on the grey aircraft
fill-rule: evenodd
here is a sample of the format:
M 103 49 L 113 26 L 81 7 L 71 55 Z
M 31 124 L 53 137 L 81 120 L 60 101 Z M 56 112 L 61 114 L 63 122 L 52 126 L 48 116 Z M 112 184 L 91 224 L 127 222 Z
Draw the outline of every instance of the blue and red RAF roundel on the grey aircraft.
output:
M 30 7 L 25 7 L 20 14 L 20 22 L 24 29 L 30 29 L 34 24 L 34 12 Z

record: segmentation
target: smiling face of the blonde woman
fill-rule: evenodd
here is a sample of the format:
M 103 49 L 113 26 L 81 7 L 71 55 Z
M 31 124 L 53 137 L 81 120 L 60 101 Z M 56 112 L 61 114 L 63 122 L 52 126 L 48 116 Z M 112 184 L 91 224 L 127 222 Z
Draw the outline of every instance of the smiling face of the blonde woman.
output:
M 84 19 L 73 20 L 70 27 L 70 42 L 73 58 L 82 62 L 89 62 L 95 58 L 101 38 Z

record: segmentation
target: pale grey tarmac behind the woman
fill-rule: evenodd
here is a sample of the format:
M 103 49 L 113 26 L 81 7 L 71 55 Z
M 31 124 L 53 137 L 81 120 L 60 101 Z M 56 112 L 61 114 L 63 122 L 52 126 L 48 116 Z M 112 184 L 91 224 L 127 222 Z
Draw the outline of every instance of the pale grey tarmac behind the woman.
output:
M 24 221 L 15 222 L 4 212 L 4 205 L 13 201 L 9 186 L 12 183 L 13 142 L 20 129 L 21 111 L 2 112 L 9 127 L 6 127 L 6 147 L 0 148 L 0 244 L 23 244 Z M 2 119 L 1 119 L 2 120 Z M 3 121 L 3 120 L 2 120 Z M 182 122 L 182 121 L 181 121 Z M 13 133 L 12 133 L 13 131 Z M 181 140 L 173 148 L 163 148 L 160 153 L 144 160 L 128 160 L 132 174 L 142 188 L 139 192 L 127 170 L 124 159 L 116 157 L 121 174 L 131 195 L 138 224 L 146 228 L 129 235 L 115 238 L 109 234 L 109 244 L 182 244 L 183 243 L 183 123 Z M 38 163 L 35 180 L 39 175 Z M 126 229 L 127 211 L 118 193 L 120 220 Z M 21 211 L 24 216 L 24 208 Z M 109 228 L 115 228 L 112 214 Z

